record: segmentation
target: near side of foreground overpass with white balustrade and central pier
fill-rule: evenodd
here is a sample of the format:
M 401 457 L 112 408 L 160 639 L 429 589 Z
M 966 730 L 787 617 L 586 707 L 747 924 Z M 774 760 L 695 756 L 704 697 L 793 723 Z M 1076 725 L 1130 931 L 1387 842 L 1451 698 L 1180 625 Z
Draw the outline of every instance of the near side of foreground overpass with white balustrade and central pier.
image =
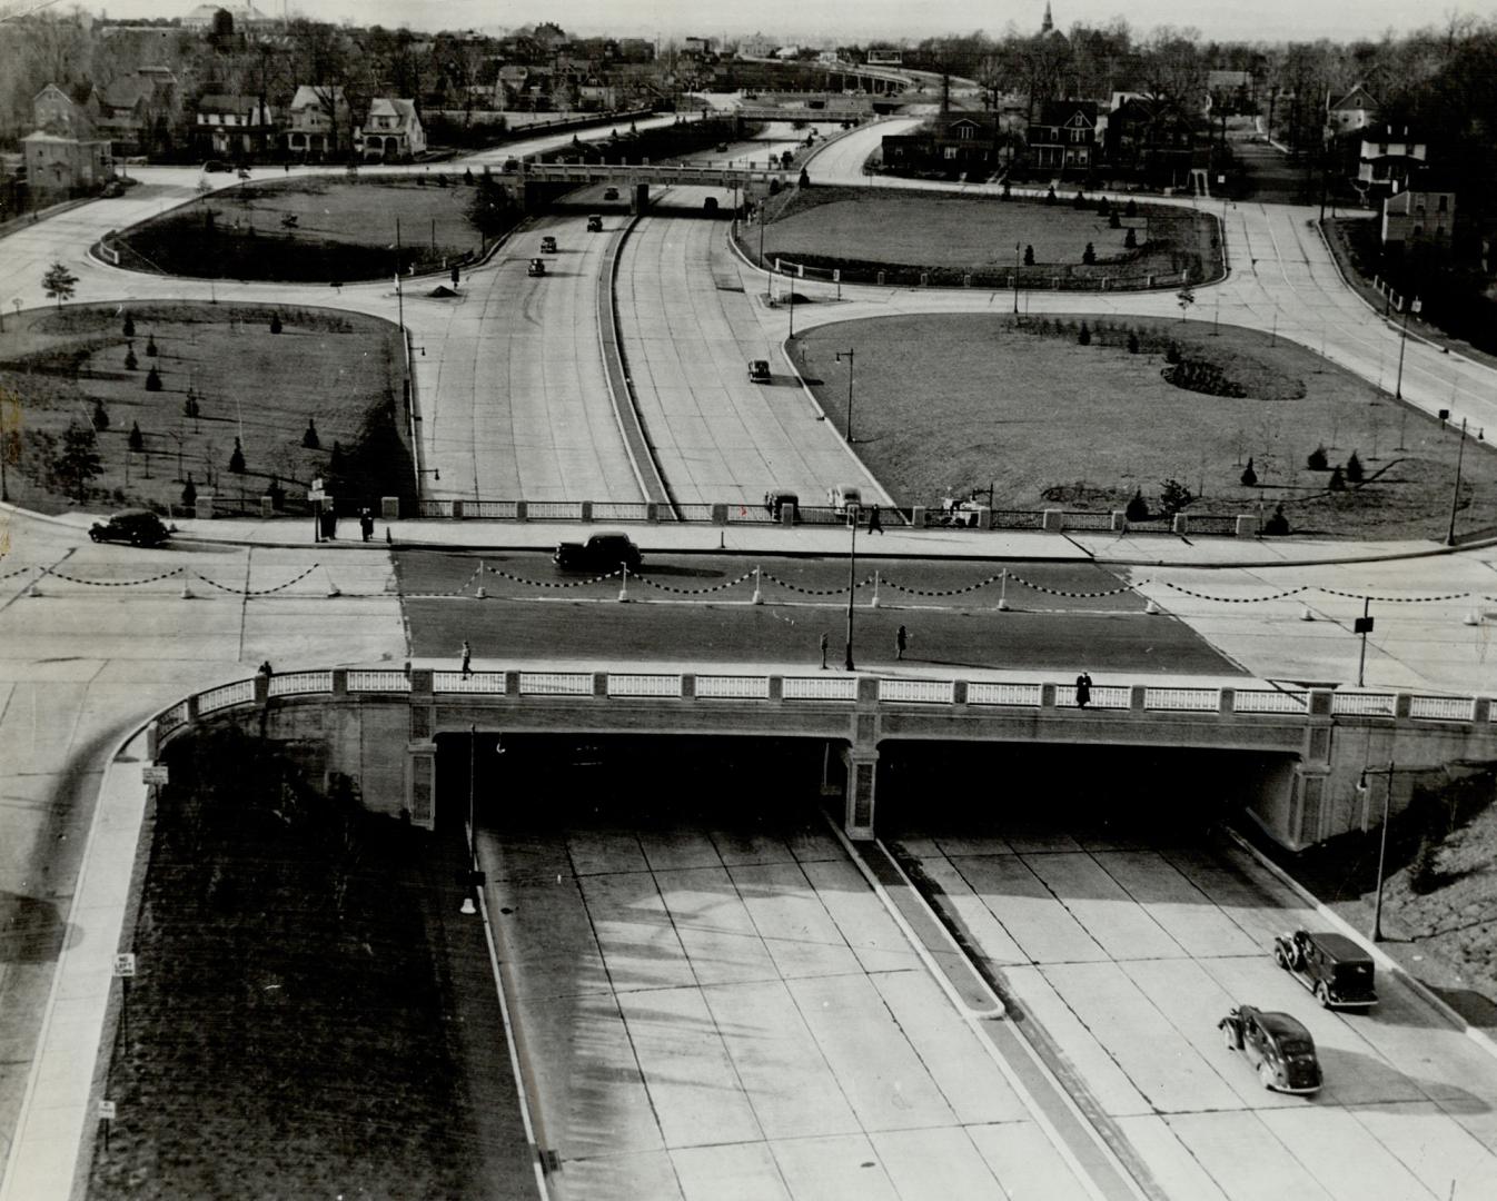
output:
M 1247 807 L 1299 849 L 1379 824 L 1407 804 L 1421 771 L 1497 759 L 1497 704 L 1487 696 L 1240 686 L 1093 686 L 873 674 L 680 672 L 515 668 L 319 669 L 257 675 L 187 696 L 159 714 L 148 752 L 205 722 L 232 722 L 287 743 L 320 744 L 326 771 L 359 782 L 365 807 L 436 825 L 443 735 L 629 735 L 807 738 L 837 749 L 843 825 L 871 839 L 880 747 L 892 743 L 1094 744 L 1222 752 L 1199 780 L 1202 803 Z M 1370 765 L 1398 764 L 1377 786 Z M 1377 768 L 1373 767 L 1376 774 Z M 1383 789 L 1389 795 L 1383 795 Z M 1003 789 L 996 788 L 1000 797 Z M 998 800 L 994 801 L 1000 803 Z

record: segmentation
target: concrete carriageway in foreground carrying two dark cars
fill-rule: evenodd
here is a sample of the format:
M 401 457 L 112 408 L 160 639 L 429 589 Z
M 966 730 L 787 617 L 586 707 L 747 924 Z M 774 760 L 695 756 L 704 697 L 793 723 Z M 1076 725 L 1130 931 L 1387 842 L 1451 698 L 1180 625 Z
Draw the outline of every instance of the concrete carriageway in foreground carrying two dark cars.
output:
M 1106 1114 L 1172 1197 L 1488 1197 L 1497 1191 L 1497 1062 L 1382 978 L 1370 1014 L 1331 1014 L 1268 954 L 1317 925 L 1256 861 L 1168 822 L 1132 824 L 1100 780 L 1057 771 L 1043 815 L 894 815 L 885 837 L 1037 1023 L 1075 1095 Z M 1127 797 L 1201 807 L 1190 780 Z M 1304 1021 L 1326 1084 L 1265 1092 L 1216 1020 L 1237 1002 Z

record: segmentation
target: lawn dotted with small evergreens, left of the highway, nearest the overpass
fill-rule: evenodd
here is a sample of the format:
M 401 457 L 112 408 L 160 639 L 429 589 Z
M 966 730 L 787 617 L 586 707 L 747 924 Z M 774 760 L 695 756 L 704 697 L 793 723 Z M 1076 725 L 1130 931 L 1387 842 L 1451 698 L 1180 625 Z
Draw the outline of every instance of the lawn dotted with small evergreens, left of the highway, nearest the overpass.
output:
M 19 398 L 21 461 L 7 481 L 18 503 L 43 512 L 72 503 L 51 460 L 70 422 L 93 428 L 96 401 L 109 418 L 97 433 L 103 472 L 88 496 L 96 505 L 180 508 L 190 475 L 199 496 L 213 491 L 222 503 L 243 497 L 257 506 L 272 478 L 295 493 L 328 475 L 334 442 L 346 473 L 365 479 L 368 455 L 358 448 L 379 446 L 392 461 L 374 467 L 391 476 L 376 491 L 410 490 L 392 419 L 392 397 L 401 394 L 395 326 L 286 307 L 275 310 L 281 332 L 272 334 L 271 310 L 260 305 L 151 301 L 127 311 L 133 338 L 115 305 L 37 308 L 6 322 L 0 388 Z M 130 343 L 135 370 L 124 367 Z M 145 388 L 153 365 L 157 392 Z M 198 418 L 186 415 L 189 391 Z M 320 449 L 302 446 L 308 419 Z M 132 425 L 139 425 L 141 451 L 129 446 Z M 235 437 L 243 439 L 244 475 L 229 470 Z

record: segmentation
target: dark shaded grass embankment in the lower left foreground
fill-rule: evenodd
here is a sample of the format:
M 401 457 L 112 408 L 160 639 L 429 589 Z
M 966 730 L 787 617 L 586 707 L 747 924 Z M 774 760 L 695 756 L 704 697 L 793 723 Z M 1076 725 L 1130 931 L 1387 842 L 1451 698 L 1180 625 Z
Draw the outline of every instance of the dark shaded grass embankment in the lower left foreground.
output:
M 524 1140 L 478 1113 L 421 896 L 430 836 L 232 729 L 168 758 L 88 1195 L 515 1195 Z

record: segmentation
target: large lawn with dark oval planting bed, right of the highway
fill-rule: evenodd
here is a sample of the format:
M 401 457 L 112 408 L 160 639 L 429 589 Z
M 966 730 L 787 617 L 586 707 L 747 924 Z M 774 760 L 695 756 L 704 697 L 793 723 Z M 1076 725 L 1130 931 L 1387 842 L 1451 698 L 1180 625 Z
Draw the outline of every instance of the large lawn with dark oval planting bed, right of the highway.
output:
M 847 368 L 858 350 L 856 451 L 903 505 L 994 488 L 1000 509 L 1121 509 L 1160 482 L 1202 497 L 1198 511 L 1256 512 L 1283 503 L 1296 533 L 1443 538 L 1460 439 L 1301 346 L 1204 322 L 1082 317 L 925 316 L 823 325 L 798 340 L 801 368 L 828 419 L 844 421 Z M 1124 323 L 1126 322 L 1126 323 Z M 1060 331 L 1057 332 L 1057 323 Z M 1129 353 L 1127 332 L 1142 344 Z M 1162 377 L 1165 349 L 1205 361 L 1247 395 L 1186 391 Z M 1400 442 L 1403 448 L 1400 448 Z M 1356 451 L 1367 481 L 1329 493 L 1328 472 Z M 1253 458 L 1257 487 L 1240 482 Z M 1497 461 L 1466 443 L 1458 530 L 1497 523 Z

